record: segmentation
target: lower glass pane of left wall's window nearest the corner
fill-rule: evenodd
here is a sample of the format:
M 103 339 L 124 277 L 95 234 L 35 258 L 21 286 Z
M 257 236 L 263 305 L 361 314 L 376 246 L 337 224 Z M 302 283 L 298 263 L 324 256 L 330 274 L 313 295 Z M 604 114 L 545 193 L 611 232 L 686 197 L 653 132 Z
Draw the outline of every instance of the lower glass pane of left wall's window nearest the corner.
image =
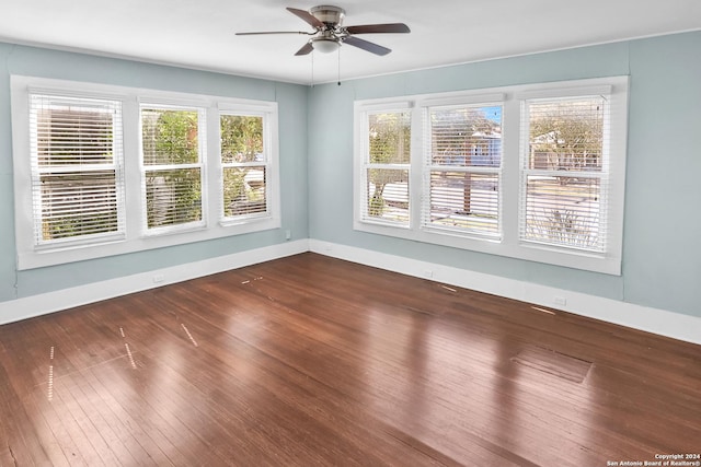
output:
M 265 166 L 225 167 L 225 217 L 267 212 Z

